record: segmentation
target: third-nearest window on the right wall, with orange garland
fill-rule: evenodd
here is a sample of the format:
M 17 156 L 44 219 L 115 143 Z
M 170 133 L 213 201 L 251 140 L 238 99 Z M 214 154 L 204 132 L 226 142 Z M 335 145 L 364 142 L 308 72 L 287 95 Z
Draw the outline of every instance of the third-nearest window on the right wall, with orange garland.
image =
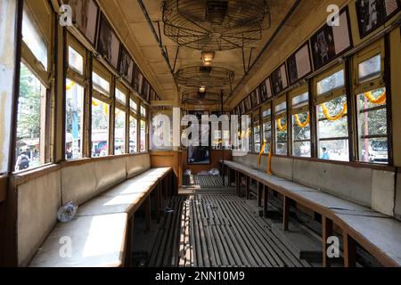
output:
M 309 93 L 302 86 L 290 94 L 292 124 L 292 155 L 311 157 Z

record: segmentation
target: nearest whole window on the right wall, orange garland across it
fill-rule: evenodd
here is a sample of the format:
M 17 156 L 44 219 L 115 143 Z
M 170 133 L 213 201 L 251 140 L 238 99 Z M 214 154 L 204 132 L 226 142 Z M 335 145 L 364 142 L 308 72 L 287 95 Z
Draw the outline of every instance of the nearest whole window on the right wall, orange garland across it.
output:
M 384 41 L 357 53 L 354 58 L 357 85 L 357 159 L 366 163 L 388 164 L 388 106 L 384 82 Z

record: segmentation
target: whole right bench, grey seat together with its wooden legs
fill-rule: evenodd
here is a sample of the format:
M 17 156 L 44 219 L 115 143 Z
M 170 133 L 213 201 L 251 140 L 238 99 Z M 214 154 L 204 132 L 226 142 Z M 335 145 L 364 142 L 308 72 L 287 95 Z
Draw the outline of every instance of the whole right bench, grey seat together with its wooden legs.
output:
M 333 234 L 333 224 L 342 229 L 345 266 L 356 266 L 356 242 L 382 265 L 401 266 L 401 223 L 395 218 L 315 188 L 275 175 L 267 175 L 237 162 L 225 161 L 224 165 L 228 167 L 229 183 L 233 178 L 235 180 L 238 194 L 241 194 L 241 175 L 246 177 L 247 198 L 250 193 L 250 179 L 258 182 L 258 201 L 259 204 L 263 204 L 265 215 L 268 191 L 273 190 L 282 194 L 284 231 L 288 230 L 291 200 L 322 216 L 323 266 L 330 265 L 330 259 L 326 256 L 326 240 Z M 263 203 L 261 203 L 262 197 Z

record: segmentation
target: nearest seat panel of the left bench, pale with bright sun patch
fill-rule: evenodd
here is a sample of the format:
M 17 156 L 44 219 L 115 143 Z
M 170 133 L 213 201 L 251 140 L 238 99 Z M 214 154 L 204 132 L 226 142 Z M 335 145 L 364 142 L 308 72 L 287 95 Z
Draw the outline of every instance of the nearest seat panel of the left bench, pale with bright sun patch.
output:
M 127 214 L 78 216 L 70 223 L 56 224 L 29 266 L 123 266 L 126 236 Z M 62 256 L 69 254 L 69 243 L 70 256 Z

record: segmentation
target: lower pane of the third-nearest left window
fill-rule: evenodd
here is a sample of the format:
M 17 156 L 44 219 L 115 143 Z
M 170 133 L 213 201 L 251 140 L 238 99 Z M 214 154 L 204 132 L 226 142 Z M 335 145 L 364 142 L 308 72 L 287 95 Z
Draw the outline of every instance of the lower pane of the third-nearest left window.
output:
M 109 155 L 110 105 L 92 99 L 92 157 Z

